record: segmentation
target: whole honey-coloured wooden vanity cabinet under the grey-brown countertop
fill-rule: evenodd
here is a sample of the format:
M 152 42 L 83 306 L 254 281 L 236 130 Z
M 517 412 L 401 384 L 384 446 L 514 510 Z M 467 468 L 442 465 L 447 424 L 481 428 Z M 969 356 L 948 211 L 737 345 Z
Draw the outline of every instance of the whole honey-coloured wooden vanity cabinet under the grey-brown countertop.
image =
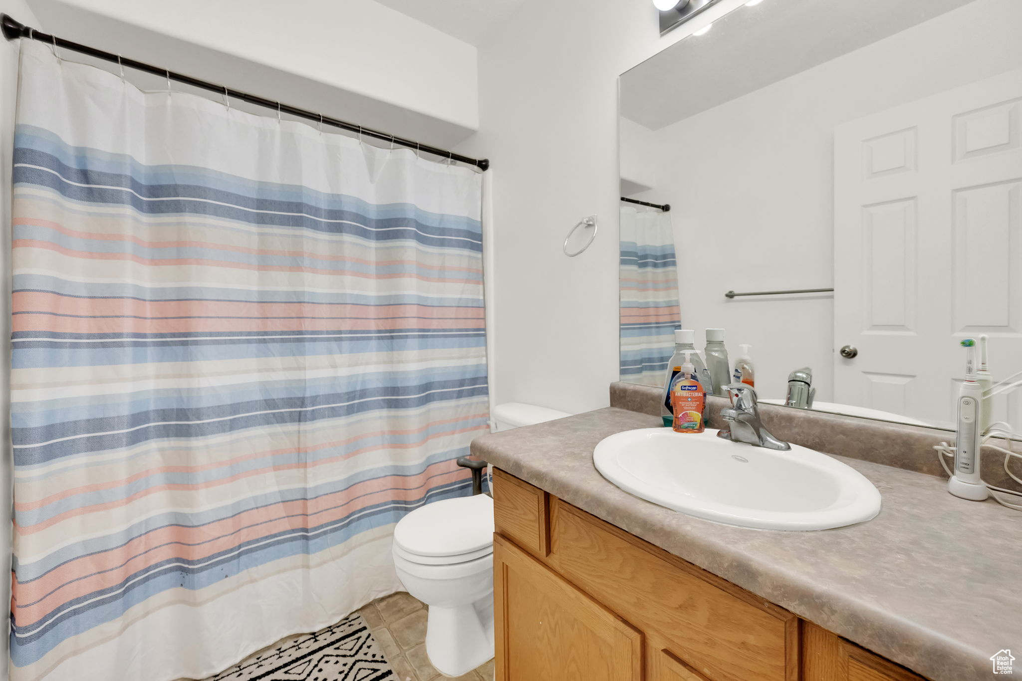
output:
M 923 681 L 494 471 L 497 681 Z

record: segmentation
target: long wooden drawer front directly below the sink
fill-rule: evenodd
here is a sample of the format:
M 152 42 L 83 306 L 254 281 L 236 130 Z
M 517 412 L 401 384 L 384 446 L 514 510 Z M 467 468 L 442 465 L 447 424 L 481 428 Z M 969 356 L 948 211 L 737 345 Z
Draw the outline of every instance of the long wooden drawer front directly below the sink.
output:
M 794 615 L 556 497 L 550 561 L 596 600 L 665 642 L 681 665 L 654 660 L 666 668 L 664 679 L 798 679 Z

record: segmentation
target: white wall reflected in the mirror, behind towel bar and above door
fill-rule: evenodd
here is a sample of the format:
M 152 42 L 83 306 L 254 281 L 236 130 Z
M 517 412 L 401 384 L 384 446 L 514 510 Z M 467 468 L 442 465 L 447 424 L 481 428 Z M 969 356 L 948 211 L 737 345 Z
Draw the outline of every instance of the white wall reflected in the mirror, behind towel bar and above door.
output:
M 728 329 L 732 357 L 751 343 L 762 397 L 802 366 L 833 397 L 832 348 L 847 341 L 831 297 L 724 293 L 833 286 L 834 127 L 1017 67 L 1020 26 L 1018 0 L 977 0 L 655 133 L 650 194 L 671 204 L 680 267 L 701 283 L 681 291 L 682 323 Z M 691 244 L 712 257 L 686 261 Z

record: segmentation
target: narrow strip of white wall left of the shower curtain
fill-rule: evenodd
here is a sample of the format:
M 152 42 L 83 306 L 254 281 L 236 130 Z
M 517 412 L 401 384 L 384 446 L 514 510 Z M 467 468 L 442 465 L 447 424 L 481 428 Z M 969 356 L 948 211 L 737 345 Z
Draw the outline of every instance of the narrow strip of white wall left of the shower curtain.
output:
M 0 12 L 10 14 L 19 21 L 37 21 L 36 16 L 25 4 L 25 0 L 0 0 Z M 14 148 L 14 105 L 17 95 L 17 41 L 8 43 L 0 38 L 0 338 L 10 338 L 10 173 L 11 153 Z M 11 524 L 11 483 L 12 460 L 10 448 L 10 343 L 4 340 L 0 347 L 0 565 L 3 570 L 10 568 Z M 10 580 L 0 580 L 0 602 L 10 602 Z M 6 660 L 8 649 L 9 618 L 0 636 L 0 660 Z M 0 664 L 0 681 L 7 679 L 7 663 Z

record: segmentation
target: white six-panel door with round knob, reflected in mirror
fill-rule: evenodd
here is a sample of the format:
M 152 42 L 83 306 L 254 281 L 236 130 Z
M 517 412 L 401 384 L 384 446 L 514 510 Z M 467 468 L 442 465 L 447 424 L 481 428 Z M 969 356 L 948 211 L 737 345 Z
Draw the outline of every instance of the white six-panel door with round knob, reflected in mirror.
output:
M 1022 70 L 835 130 L 834 401 L 948 426 L 963 338 L 1022 370 L 1020 135 Z M 1022 390 L 993 408 L 1022 426 Z

